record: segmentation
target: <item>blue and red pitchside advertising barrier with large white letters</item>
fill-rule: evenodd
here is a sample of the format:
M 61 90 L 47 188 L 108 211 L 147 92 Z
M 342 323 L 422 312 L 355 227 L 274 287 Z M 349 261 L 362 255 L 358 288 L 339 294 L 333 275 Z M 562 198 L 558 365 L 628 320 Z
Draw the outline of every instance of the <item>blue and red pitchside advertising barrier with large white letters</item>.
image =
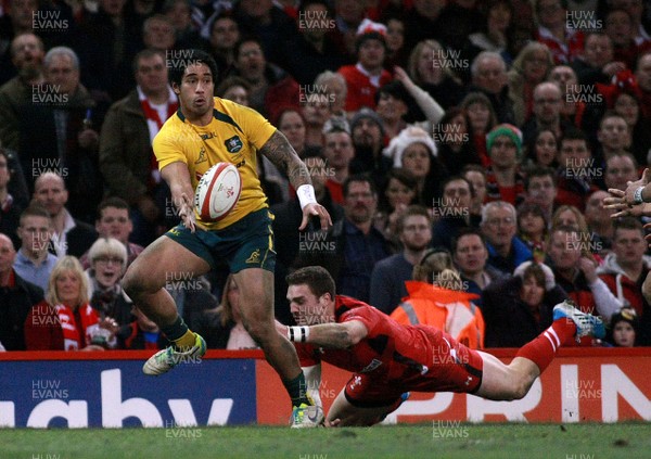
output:
M 515 349 L 492 353 L 509 361 Z M 143 350 L 0 353 L 0 426 L 288 423 L 289 398 L 259 350 L 208 350 L 157 378 L 141 372 L 150 356 Z M 346 371 L 323 365 L 319 390 L 326 409 L 348 379 Z M 412 394 L 385 423 L 433 420 L 651 421 L 651 347 L 560 349 L 522 400 Z

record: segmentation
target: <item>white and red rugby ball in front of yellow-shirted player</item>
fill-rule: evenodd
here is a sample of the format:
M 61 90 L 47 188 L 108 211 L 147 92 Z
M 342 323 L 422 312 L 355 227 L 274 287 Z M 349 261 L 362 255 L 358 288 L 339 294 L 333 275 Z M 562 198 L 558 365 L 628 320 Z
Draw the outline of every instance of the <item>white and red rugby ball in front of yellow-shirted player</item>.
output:
M 217 163 L 201 176 L 194 192 L 194 207 L 203 221 L 219 221 L 238 204 L 242 178 L 235 166 Z

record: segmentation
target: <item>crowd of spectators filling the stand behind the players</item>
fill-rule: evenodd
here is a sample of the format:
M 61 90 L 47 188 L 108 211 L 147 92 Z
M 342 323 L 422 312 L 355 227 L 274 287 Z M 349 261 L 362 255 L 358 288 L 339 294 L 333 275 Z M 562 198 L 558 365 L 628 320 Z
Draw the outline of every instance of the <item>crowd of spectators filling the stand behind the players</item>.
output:
M 522 346 L 564 299 L 609 323 L 577 345 L 651 345 L 646 217 L 603 206 L 651 164 L 650 34 L 642 0 L 0 0 L 0 349 L 167 345 L 119 280 L 179 221 L 152 140 L 191 49 L 332 216 L 299 232 L 259 157 L 280 321 L 284 277 L 321 265 L 475 348 Z M 166 289 L 209 347 L 255 347 L 226 265 Z

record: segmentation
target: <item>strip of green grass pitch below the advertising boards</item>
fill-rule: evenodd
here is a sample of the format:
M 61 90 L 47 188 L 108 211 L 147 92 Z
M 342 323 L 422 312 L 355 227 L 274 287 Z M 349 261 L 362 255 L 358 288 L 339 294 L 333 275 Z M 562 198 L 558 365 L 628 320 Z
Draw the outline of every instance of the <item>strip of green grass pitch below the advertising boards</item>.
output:
M 650 458 L 651 423 L 5 429 L 2 459 Z

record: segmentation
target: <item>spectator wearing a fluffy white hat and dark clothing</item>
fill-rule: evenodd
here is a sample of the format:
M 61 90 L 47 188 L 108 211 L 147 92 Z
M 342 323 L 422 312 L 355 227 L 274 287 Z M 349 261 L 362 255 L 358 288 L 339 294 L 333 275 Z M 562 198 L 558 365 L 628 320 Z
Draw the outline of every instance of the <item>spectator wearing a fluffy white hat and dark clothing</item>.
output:
M 393 160 L 393 167 L 409 170 L 418 181 L 418 202 L 430 206 L 441 196 L 438 183 L 447 169 L 438 160 L 432 137 L 419 127 L 408 127 L 394 137 L 383 154 Z

